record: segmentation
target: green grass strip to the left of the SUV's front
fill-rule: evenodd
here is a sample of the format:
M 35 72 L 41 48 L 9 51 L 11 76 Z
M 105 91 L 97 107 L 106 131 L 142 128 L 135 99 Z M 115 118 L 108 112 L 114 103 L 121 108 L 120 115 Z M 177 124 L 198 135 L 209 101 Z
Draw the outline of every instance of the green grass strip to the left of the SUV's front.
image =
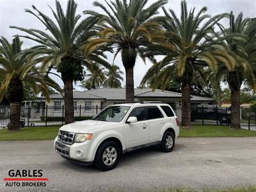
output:
M 60 126 L 56 127 L 24 127 L 20 132 L 8 132 L 8 129 L 0 129 L 0 141 L 33 141 L 54 140 Z

